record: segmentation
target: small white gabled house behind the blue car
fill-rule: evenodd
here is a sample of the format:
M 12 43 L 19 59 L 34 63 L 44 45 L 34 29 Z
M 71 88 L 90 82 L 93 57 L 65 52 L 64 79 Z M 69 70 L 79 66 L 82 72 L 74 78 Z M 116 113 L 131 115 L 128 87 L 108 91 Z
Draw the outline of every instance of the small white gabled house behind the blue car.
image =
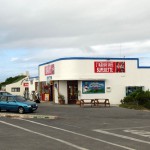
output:
M 20 79 L 6 85 L 6 91 L 13 95 L 20 95 L 29 98 L 29 77 Z

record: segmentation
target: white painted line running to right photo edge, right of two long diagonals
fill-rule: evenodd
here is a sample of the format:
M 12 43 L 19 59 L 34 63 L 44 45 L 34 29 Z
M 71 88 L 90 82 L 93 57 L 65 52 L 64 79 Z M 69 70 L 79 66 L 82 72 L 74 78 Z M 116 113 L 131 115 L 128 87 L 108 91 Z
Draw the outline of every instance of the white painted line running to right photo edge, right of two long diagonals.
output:
M 103 130 L 99 130 L 99 129 L 96 129 L 96 130 L 93 130 L 93 131 L 100 132 L 100 133 L 107 134 L 107 135 L 116 136 L 116 137 L 123 138 L 123 139 L 128 139 L 128 140 L 140 142 L 140 143 L 150 144 L 150 142 L 148 142 L 148 141 L 139 140 L 139 139 L 132 138 L 132 137 L 125 136 L 125 135 L 121 135 L 121 134 L 111 133 L 111 132 L 108 132 L 108 131 L 103 131 Z

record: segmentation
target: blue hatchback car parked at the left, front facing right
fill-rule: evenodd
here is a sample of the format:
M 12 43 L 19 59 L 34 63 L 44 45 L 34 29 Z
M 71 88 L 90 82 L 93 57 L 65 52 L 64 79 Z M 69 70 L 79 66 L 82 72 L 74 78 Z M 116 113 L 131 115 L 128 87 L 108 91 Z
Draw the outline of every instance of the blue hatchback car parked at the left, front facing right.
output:
M 27 101 L 22 96 L 3 95 L 0 96 L 0 111 L 14 111 L 20 114 L 33 112 L 37 110 L 38 105 L 35 102 Z

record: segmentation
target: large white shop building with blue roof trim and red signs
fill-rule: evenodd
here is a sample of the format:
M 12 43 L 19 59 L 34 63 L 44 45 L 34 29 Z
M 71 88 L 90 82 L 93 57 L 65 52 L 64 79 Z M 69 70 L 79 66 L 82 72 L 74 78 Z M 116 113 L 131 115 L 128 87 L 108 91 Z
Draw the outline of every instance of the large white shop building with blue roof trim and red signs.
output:
M 150 89 L 150 67 L 138 58 L 60 58 L 39 65 L 39 83 L 39 92 L 55 103 L 62 94 L 65 104 L 96 98 L 119 104 L 136 89 Z

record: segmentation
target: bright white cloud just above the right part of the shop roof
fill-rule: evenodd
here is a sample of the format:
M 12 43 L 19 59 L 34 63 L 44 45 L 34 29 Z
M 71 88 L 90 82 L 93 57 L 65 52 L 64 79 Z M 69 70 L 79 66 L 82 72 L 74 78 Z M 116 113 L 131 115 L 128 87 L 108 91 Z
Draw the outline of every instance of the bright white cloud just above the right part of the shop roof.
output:
M 101 52 L 102 56 L 109 57 L 139 57 L 148 54 L 149 48 L 150 40 L 93 46 L 93 49 Z

